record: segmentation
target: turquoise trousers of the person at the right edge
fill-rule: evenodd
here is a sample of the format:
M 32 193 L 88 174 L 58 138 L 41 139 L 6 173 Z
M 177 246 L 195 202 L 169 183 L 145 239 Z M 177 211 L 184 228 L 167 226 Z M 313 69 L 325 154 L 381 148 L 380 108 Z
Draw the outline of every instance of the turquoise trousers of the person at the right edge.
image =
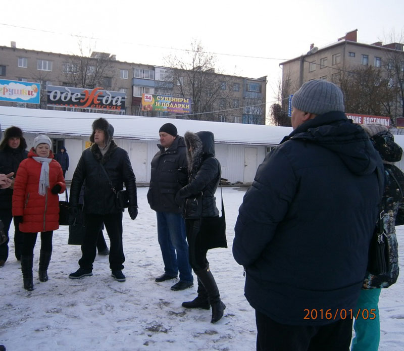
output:
M 379 295 L 382 289 L 362 289 L 355 316 L 351 351 L 377 351 L 380 342 Z M 360 309 L 360 310 L 359 310 Z

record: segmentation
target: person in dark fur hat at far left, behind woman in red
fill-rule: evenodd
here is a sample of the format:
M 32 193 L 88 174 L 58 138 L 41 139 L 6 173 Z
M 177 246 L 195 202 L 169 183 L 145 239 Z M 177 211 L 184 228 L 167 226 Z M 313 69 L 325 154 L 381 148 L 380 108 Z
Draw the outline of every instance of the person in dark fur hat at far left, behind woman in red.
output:
M 27 143 L 24 139 L 22 130 L 12 126 L 7 128 L 4 133 L 4 139 L 0 143 L 0 173 L 10 174 L 16 172 L 21 161 L 27 158 Z M 12 215 L 12 197 L 14 178 L 11 179 L 10 186 L 6 189 L 0 189 L 0 219 L 4 224 L 4 231 L 9 236 L 9 230 Z M 3 267 L 9 257 L 9 239 L 0 245 L 0 267 Z M 14 220 L 14 254 L 16 259 L 21 259 L 22 234 L 18 229 L 18 223 Z

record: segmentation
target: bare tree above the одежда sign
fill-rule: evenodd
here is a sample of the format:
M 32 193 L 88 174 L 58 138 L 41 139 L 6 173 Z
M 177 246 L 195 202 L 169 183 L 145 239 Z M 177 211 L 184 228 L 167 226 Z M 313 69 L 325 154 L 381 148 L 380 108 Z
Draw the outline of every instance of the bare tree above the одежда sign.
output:
M 77 88 L 111 89 L 115 55 L 94 52 L 91 45 L 85 49 L 81 40 L 78 46 L 79 55 L 71 55 L 63 64 L 61 80 Z

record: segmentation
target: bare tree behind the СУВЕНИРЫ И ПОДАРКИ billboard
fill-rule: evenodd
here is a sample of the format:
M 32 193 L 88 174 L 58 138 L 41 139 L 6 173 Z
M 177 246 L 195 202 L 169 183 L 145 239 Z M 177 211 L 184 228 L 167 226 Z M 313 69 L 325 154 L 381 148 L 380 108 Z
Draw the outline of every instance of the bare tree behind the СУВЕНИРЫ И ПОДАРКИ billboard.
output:
M 231 106 L 229 78 L 215 72 L 216 58 L 205 53 L 200 42 L 191 43 L 186 58 L 170 56 L 166 62 L 173 69 L 173 93 L 192 99 L 191 115 L 186 118 L 208 121 L 226 118 Z

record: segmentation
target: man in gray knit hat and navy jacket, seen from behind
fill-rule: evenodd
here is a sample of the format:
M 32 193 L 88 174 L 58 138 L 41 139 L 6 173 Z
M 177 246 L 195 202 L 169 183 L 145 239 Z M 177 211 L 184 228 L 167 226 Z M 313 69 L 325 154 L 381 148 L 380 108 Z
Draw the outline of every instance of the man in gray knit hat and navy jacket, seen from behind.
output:
M 256 310 L 257 350 L 347 350 L 383 165 L 335 84 L 306 82 L 292 107 L 293 131 L 240 206 L 233 256 Z

